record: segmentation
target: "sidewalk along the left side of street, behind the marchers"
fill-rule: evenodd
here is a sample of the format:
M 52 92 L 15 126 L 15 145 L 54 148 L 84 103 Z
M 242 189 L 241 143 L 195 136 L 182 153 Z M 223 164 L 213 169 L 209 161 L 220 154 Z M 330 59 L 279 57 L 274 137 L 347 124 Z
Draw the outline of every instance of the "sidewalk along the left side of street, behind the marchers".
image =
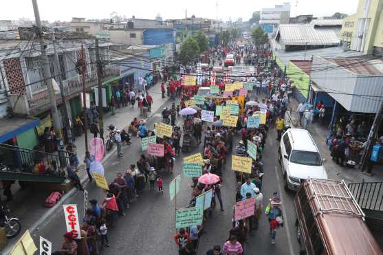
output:
M 149 113 L 149 118 L 151 118 L 155 112 L 162 108 L 164 104 L 168 101 L 168 98 L 162 98 L 162 93 L 160 89 L 160 82 L 157 82 L 156 85 L 149 89 L 149 94 L 153 98 L 153 104 L 151 106 L 151 112 Z M 116 115 L 111 115 L 110 112 L 105 113 L 104 115 L 104 127 L 109 126 L 109 124 L 113 124 L 118 129 L 124 129 L 129 125 L 133 118 L 137 117 L 140 120 L 140 109 L 138 108 L 137 103 L 135 107 L 132 109 L 131 106 L 122 107 L 120 109 L 116 109 Z M 107 133 L 105 132 L 105 136 Z M 94 137 L 91 133 L 88 133 L 88 140 Z M 74 142 L 77 146 L 78 159 L 80 160 L 80 166 L 78 167 L 78 175 L 83 184 L 86 184 L 88 181 L 87 171 L 85 170 L 85 166 L 83 164 L 83 159 L 85 158 L 85 135 L 81 135 L 80 137 L 76 137 L 76 141 Z M 124 148 L 124 146 L 123 146 Z M 116 156 L 116 146 L 113 146 L 111 151 L 107 151 L 104 159 L 102 159 L 102 163 L 107 161 L 109 157 Z M 117 157 L 117 156 L 116 156 Z M 39 230 L 39 225 L 42 225 L 47 221 L 49 217 L 52 216 L 61 204 L 64 203 L 66 199 L 72 197 L 76 194 L 76 188 L 72 188 L 69 192 L 67 192 L 61 201 L 59 201 L 56 206 L 53 208 L 45 208 L 43 203 L 47 196 L 50 194 L 47 190 L 38 190 L 27 188 L 26 190 L 17 190 L 19 188 L 19 184 L 14 184 L 12 186 L 12 190 L 14 191 L 14 199 L 8 203 L 10 206 L 10 210 L 12 216 L 18 217 L 21 223 L 22 229 L 19 234 L 14 239 L 8 240 L 8 247 L 12 247 L 12 244 L 16 242 L 25 232 L 25 230 L 29 229 L 30 232 L 34 232 L 34 230 Z

